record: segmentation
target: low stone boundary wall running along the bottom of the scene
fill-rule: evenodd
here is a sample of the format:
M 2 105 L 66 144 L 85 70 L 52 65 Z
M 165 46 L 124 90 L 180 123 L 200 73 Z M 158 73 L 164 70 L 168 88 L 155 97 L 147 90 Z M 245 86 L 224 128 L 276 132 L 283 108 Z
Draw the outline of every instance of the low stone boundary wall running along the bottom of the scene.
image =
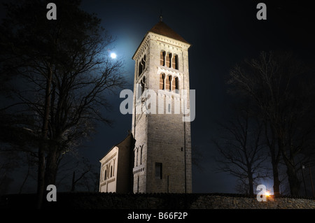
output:
M 33 209 L 36 194 L 0 197 L 0 208 Z M 45 209 L 315 209 L 314 198 L 256 197 L 240 194 L 116 194 L 57 193 L 57 201 L 43 203 Z

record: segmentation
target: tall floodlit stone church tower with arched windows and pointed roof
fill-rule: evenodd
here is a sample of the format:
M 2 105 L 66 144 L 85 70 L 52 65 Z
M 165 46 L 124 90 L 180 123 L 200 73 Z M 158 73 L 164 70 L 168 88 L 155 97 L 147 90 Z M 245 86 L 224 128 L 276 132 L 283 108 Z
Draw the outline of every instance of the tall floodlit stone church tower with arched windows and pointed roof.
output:
M 132 57 L 134 193 L 192 192 L 189 48 L 161 17 Z

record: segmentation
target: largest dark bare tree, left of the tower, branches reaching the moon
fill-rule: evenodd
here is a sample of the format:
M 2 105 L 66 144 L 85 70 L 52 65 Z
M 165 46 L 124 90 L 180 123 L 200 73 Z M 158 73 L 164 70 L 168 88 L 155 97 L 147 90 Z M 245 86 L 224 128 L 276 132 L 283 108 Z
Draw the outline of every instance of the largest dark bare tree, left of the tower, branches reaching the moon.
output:
M 1 24 L 1 73 L 15 73 L 20 86 L 6 113 L 28 115 L 36 138 L 38 207 L 45 185 L 55 184 L 62 154 L 88 138 L 97 122 L 110 124 L 106 94 L 123 87 L 122 62 L 111 60 L 113 38 L 80 1 L 57 1 L 58 19 L 46 20 L 45 1 L 7 5 Z M 17 125 L 21 127 L 21 125 Z M 33 141 L 34 142 L 34 141 Z

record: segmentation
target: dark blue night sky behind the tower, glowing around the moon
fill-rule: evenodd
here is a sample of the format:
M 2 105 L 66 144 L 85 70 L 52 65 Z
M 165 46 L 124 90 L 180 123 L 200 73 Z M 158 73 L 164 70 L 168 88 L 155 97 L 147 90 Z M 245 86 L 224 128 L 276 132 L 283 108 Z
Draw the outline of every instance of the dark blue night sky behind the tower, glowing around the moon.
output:
M 267 5 L 267 20 L 256 18 L 259 2 Z M 134 81 L 132 55 L 146 32 L 158 23 L 160 10 L 163 22 L 192 45 L 188 51 L 190 89 L 196 92 L 192 145 L 203 156 L 203 171 L 193 166 L 193 192 L 235 192 L 235 178 L 216 173 L 216 149 L 211 143 L 211 138 L 217 137 L 216 123 L 224 122 L 230 112 L 225 84 L 229 71 L 245 58 L 257 57 L 262 50 L 292 50 L 304 61 L 314 61 L 311 6 L 302 1 L 85 0 L 82 8 L 97 13 L 102 26 L 117 38 L 110 52 L 123 59 L 129 89 L 133 90 Z M 99 125 L 97 134 L 81 150 L 94 164 L 100 165 L 99 159 L 132 127 L 132 115 L 120 113 L 123 100 L 119 92 L 111 95 L 112 110 L 104 115 L 111 117 L 113 127 Z

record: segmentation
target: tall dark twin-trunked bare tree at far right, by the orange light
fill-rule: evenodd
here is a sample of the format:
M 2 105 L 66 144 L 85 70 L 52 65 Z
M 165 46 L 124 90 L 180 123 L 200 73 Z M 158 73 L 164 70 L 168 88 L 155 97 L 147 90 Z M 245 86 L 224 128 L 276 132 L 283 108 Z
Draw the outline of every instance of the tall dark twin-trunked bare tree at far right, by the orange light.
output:
M 290 52 L 261 52 L 230 72 L 231 92 L 255 105 L 265 123 L 272 155 L 274 192 L 279 193 L 279 152 L 286 164 L 290 194 L 297 195 L 300 180 L 296 158 L 314 143 L 314 78 Z M 306 156 L 305 156 L 306 157 Z

